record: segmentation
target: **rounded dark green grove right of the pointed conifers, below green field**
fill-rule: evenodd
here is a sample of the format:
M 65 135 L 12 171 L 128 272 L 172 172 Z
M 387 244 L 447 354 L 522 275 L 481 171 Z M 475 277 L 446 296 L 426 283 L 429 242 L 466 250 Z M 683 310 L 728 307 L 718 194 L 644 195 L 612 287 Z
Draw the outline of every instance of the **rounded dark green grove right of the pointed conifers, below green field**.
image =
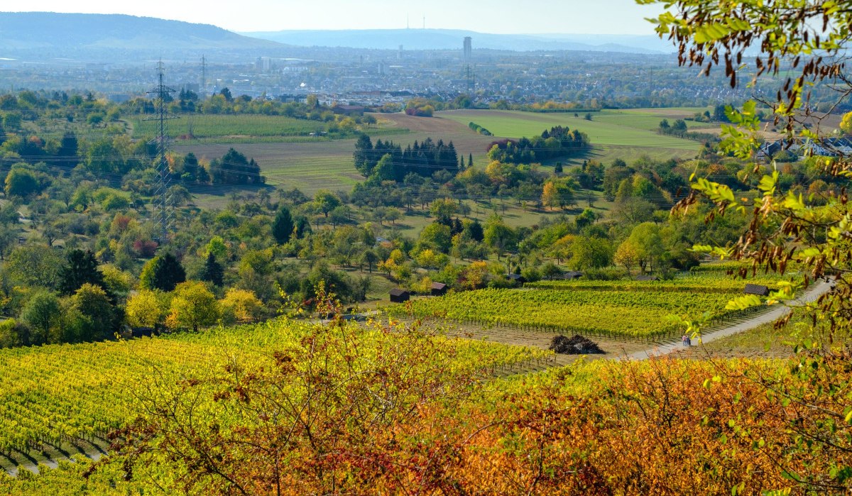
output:
M 579 130 L 556 126 L 532 139 L 498 140 L 488 146 L 488 159 L 507 164 L 533 164 L 577 153 L 589 147 L 589 138 Z

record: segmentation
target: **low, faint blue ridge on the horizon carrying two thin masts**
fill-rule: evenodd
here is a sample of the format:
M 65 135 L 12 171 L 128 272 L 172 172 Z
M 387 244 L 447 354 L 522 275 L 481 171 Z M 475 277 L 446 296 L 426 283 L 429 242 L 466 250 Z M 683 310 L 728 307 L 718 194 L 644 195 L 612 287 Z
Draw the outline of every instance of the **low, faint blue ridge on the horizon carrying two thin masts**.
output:
M 635 54 L 674 51 L 659 37 L 630 35 L 489 34 L 451 29 L 376 29 L 328 31 L 245 32 L 279 43 L 302 47 L 348 47 L 355 49 L 461 49 L 463 37 L 473 38 L 474 49 L 497 50 L 583 50 Z

